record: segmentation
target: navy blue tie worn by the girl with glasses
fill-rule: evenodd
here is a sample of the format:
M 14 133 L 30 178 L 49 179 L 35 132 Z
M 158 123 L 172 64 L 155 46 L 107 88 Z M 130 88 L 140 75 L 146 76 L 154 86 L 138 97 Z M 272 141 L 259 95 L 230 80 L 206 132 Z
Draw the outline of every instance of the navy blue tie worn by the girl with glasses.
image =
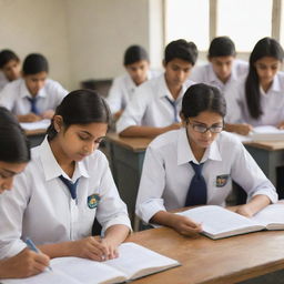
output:
M 195 164 L 190 162 L 190 164 L 192 165 L 195 174 L 191 180 L 191 185 L 185 200 L 185 206 L 206 204 L 207 186 L 204 176 L 202 175 L 202 168 L 204 163 Z

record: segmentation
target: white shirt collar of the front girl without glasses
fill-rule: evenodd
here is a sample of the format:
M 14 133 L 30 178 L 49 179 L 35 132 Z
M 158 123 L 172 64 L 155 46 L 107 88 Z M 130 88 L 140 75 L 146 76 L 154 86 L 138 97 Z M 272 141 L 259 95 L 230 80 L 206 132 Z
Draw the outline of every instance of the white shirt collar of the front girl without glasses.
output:
M 41 143 L 41 145 L 39 148 L 40 148 L 39 149 L 40 160 L 41 160 L 41 164 L 43 168 L 45 181 L 50 181 L 60 175 L 63 175 L 64 178 L 71 180 L 65 174 L 65 172 L 61 169 L 61 166 L 58 164 L 58 162 L 51 151 L 50 144 L 48 142 L 48 136 L 44 138 L 43 142 Z M 78 178 L 80 178 L 80 176 L 89 178 L 88 170 L 87 170 L 83 161 L 75 163 L 75 170 L 74 170 L 74 173 L 72 176 L 72 182 L 77 181 Z

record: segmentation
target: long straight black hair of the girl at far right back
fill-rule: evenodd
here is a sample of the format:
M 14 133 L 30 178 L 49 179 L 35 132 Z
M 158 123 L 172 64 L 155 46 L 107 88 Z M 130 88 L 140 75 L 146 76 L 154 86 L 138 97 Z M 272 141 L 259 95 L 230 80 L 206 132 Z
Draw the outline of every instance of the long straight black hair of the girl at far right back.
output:
M 253 119 L 258 119 L 262 114 L 260 79 L 256 72 L 255 62 L 262 58 L 275 58 L 283 61 L 284 51 L 281 44 L 272 38 L 261 39 L 254 47 L 250 55 L 250 69 L 245 80 L 245 99 L 247 109 Z

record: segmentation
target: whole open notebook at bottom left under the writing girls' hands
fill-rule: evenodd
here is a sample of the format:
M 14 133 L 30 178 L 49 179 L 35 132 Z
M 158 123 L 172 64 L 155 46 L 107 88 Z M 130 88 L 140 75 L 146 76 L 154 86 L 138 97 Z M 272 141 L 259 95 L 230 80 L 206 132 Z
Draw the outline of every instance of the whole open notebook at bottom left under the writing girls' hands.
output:
M 105 262 L 79 257 L 59 257 L 51 261 L 52 271 L 23 280 L 3 280 L 2 284 L 111 284 L 139 278 L 180 265 L 175 260 L 155 253 L 135 243 L 123 243 L 120 256 Z

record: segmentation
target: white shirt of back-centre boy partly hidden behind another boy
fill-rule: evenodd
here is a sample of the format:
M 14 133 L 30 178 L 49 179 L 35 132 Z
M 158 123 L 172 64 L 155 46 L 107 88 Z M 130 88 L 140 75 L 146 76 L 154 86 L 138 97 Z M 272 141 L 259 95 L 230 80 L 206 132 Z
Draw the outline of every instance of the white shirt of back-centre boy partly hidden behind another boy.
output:
M 160 73 L 161 72 L 149 70 L 148 80 L 158 77 Z M 124 110 L 136 88 L 138 85 L 129 73 L 115 78 L 106 98 L 111 112 L 115 113 L 120 110 Z

